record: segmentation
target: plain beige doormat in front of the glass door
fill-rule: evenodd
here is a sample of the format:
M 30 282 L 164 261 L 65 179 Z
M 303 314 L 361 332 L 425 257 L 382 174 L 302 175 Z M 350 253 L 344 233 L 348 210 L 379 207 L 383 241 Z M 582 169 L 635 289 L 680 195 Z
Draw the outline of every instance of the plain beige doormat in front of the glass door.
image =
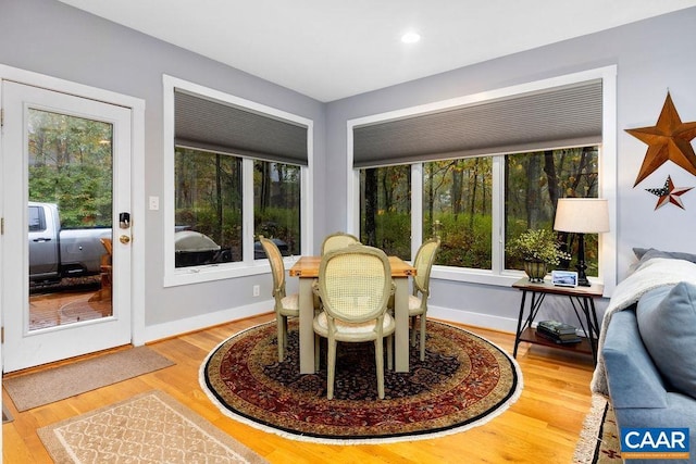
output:
M 26 411 L 171 365 L 161 354 L 137 347 L 10 377 L 2 384 L 17 411 Z

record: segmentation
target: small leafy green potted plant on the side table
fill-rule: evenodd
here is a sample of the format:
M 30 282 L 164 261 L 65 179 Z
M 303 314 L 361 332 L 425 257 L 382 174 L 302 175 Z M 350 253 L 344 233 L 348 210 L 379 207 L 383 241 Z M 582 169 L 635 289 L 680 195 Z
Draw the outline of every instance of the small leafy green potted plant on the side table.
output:
M 570 260 L 570 254 L 560 249 L 556 233 L 548 229 L 529 229 L 508 243 L 506 251 L 522 260 L 530 281 L 543 281 L 547 266 Z

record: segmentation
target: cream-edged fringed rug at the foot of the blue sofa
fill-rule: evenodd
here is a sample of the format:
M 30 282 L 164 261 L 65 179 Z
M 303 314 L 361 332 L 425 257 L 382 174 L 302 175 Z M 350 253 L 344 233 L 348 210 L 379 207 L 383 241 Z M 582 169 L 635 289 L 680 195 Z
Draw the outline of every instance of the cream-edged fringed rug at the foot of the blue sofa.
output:
M 600 396 L 593 397 L 592 409 L 583 423 L 573 463 L 623 463 L 613 409 Z

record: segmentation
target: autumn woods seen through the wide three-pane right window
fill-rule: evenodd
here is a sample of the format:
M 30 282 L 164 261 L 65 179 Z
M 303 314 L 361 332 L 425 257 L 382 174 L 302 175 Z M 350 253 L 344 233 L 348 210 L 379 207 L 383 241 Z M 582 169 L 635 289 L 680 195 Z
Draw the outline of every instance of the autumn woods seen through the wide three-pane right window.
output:
M 502 183 L 493 176 L 494 160 L 504 165 Z M 411 165 L 360 171 L 360 237 L 387 254 L 410 259 L 411 195 L 422 196 L 422 236 L 438 235 L 436 264 L 492 269 L 493 231 L 505 242 L 526 229 L 552 230 L 559 198 L 598 196 L 598 148 L 576 147 L 508 155 L 439 160 L 422 164 L 422 191 L 411 192 Z M 505 200 L 502 217 L 493 214 L 496 189 Z M 563 251 L 577 254 L 577 237 L 558 233 Z M 504 243 L 505 244 L 505 243 Z M 585 235 L 587 274 L 598 274 L 597 235 Z M 562 263 L 573 266 L 574 263 Z M 506 256 L 506 269 L 523 269 Z

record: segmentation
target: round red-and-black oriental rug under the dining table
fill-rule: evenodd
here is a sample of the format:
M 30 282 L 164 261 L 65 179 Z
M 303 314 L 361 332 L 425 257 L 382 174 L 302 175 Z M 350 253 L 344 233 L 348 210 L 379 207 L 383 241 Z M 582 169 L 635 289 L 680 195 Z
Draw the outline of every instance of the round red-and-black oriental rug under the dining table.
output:
M 339 343 L 335 398 L 330 401 L 324 360 L 318 374 L 299 374 L 296 325 L 288 338 L 282 363 L 275 322 L 225 340 L 201 366 L 203 390 L 225 414 L 253 427 L 296 440 L 344 444 L 462 431 L 500 414 L 522 390 L 519 366 L 501 349 L 428 321 L 425 361 L 415 347 L 409 373 L 385 368 L 384 400 L 376 398 L 373 343 Z

